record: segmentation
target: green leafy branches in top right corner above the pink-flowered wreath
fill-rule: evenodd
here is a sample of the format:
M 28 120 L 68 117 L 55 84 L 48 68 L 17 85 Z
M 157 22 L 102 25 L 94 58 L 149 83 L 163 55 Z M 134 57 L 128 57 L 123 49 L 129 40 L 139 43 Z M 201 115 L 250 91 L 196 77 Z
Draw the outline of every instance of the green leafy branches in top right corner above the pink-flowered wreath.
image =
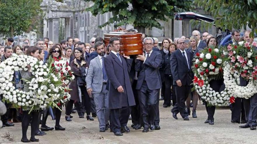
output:
M 194 4 L 211 15 L 216 21 L 212 23 L 205 23 L 195 21 L 193 25 L 205 25 L 205 28 L 215 24 L 223 30 L 229 29 L 246 29 L 246 26 L 257 33 L 257 1 L 253 0 L 194 0 Z M 252 33 L 253 36 L 253 33 Z

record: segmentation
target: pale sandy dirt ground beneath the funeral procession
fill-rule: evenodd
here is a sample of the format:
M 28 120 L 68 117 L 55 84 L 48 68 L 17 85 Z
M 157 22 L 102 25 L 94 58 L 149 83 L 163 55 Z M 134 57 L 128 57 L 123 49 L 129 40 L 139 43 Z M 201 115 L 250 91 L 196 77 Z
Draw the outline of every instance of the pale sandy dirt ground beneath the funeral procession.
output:
M 72 122 L 66 122 L 64 112 L 60 124 L 66 127 L 65 131 L 47 131 L 47 135 L 36 136 L 40 144 L 256 144 L 257 131 L 240 129 L 241 124 L 232 124 L 231 111 L 229 108 L 220 107 L 214 115 L 214 125 L 204 124 L 207 118 L 205 106 L 197 106 L 197 118 L 190 115 L 189 121 L 183 121 L 178 114 L 178 120 L 171 116 L 171 108 L 163 108 L 160 101 L 160 127 L 161 130 L 142 133 L 142 130 L 131 128 L 131 120 L 128 127 L 131 132 L 123 136 L 114 136 L 110 129 L 100 133 L 98 120 L 88 121 L 86 118 L 79 119 L 77 113 L 73 114 Z M 191 108 L 192 111 L 192 108 Z M 54 127 L 54 121 L 49 116 L 47 125 Z M 30 137 L 30 127 L 27 132 Z M 15 123 L 14 127 L 0 129 L 0 143 L 21 143 L 21 123 Z M 36 143 L 36 142 L 34 142 Z

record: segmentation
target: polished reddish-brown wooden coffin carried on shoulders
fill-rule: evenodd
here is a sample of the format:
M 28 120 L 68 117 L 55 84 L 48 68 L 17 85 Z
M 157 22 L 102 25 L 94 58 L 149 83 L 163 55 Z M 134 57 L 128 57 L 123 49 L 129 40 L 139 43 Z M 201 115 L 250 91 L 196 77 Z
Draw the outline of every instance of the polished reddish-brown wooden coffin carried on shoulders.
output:
M 138 55 L 143 54 L 142 33 L 136 32 L 114 32 L 104 34 L 105 46 L 109 44 L 110 38 L 117 37 L 120 41 L 120 54 Z

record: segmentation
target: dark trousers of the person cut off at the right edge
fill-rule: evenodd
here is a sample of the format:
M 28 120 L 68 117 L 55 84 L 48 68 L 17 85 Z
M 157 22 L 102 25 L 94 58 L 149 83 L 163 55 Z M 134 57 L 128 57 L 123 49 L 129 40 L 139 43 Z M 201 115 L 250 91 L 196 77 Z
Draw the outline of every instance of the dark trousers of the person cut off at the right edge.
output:
M 248 124 L 250 126 L 257 126 L 257 94 L 254 94 L 250 98 L 250 110 L 249 110 L 249 117 L 248 117 Z

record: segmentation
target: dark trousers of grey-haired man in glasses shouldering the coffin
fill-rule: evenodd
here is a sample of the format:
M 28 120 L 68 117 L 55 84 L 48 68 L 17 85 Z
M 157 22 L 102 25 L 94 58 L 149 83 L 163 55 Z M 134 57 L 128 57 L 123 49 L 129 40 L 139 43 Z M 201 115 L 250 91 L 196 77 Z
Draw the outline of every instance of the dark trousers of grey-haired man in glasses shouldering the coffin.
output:
M 145 128 L 149 128 L 150 124 L 154 125 L 157 112 L 157 95 L 159 89 L 150 90 L 147 86 L 146 81 L 143 82 L 140 88 L 139 102 L 140 102 L 140 113 L 143 117 L 143 124 Z M 158 106 L 159 112 L 159 106 Z

